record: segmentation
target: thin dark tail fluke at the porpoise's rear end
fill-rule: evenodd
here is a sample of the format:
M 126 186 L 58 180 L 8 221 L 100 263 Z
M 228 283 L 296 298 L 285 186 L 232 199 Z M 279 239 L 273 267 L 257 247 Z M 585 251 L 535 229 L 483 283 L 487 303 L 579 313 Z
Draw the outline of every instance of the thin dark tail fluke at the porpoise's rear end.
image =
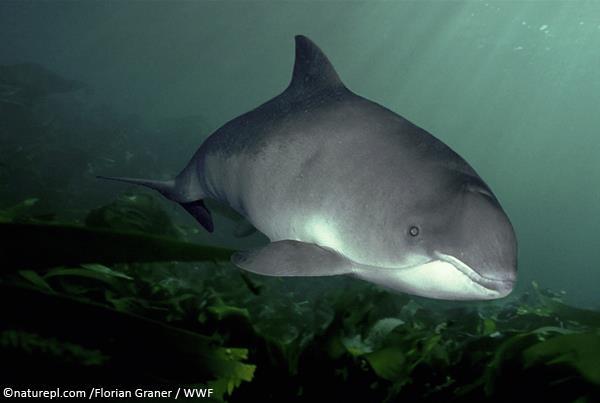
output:
M 182 201 L 181 198 L 177 197 L 177 191 L 175 187 L 175 180 L 168 181 L 155 181 L 151 179 L 138 179 L 138 178 L 121 178 L 115 176 L 98 176 L 100 179 L 108 179 L 111 181 L 131 183 L 134 185 L 146 186 L 150 189 L 154 189 L 169 200 L 176 201 L 181 205 L 188 213 L 192 215 L 208 232 L 213 232 L 214 224 L 210 211 L 206 208 L 202 200 L 196 200 L 192 202 Z

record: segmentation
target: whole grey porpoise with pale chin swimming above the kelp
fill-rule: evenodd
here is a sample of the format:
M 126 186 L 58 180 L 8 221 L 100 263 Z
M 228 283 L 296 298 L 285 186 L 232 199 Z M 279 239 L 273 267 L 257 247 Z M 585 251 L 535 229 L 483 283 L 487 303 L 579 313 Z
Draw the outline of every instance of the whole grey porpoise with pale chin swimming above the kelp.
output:
M 172 181 L 149 186 L 207 230 L 214 199 L 269 237 L 238 252 L 264 275 L 349 274 L 440 299 L 493 299 L 516 279 L 516 238 L 498 200 L 458 154 L 348 90 L 296 37 L 289 87 L 214 132 Z

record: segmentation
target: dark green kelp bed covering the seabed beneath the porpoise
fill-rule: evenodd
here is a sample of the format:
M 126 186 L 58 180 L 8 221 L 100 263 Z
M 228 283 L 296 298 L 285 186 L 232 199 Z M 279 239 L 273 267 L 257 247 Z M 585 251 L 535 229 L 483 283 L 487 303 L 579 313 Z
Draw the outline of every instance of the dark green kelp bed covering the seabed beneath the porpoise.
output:
M 142 199 L 93 227 L 40 220 L 33 199 L 0 211 L 7 381 L 205 385 L 232 402 L 600 397 L 600 313 L 537 283 L 470 304 L 356 281 L 310 294 L 240 275 Z

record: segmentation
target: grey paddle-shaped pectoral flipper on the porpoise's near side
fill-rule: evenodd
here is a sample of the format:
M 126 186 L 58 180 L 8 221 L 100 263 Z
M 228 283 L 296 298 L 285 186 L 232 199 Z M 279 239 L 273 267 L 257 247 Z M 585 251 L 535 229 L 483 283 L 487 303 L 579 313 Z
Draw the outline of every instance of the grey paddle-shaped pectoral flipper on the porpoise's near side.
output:
M 265 276 L 333 276 L 352 272 L 352 263 L 340 254 L 315 244 L 290 240 L 237 252 L 231 262 Z

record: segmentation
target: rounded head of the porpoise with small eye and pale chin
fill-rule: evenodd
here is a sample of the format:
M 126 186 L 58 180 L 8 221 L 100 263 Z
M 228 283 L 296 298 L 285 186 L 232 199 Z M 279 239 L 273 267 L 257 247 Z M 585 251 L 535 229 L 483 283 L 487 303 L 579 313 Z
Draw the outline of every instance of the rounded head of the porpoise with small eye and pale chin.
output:
M 517 242 L 494 194 L 476 175 L 446 172 L 427 182 L 412 189 L 410 205 L 403 205 L 400 216 L 389 218 L 393 224 L 386 237 L 393 242 L 386 246 L 394 251 L 388 256 L 402 251 L 399 263 L 359 268 L 358 276 L 437 299 L 508 295 L 516 280 Z

